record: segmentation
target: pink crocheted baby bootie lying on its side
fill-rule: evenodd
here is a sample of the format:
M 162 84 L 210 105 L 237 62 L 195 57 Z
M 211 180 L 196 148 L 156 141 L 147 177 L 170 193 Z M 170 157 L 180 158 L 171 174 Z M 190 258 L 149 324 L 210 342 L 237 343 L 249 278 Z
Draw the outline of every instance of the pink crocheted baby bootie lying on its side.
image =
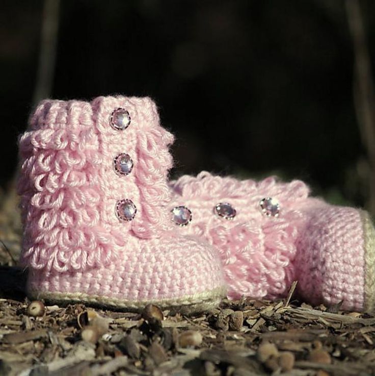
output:
M 312 304 L 374 309 L 375 231 L 366 212 L 309 197 L 297 180 L 203 171 L 170 185 L 172 220 L 219 249 L 230 297 L 282 297 L 298 280 Z

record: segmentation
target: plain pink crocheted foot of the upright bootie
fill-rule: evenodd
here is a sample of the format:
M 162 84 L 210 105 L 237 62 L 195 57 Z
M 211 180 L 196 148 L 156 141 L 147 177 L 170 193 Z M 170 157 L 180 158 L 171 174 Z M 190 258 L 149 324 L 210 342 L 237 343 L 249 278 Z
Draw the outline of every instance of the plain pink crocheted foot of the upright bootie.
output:
M 108 266 L 66 273 L 31 270 L 29 296 L 141 309 L 150 302 L 168 307 L 195 305 L 204 299 L 215 304 L 225 296 L 220 259 L 213 247 L 168 234 L 162 241 L 140 239 L 137 246 L 119 249 L 118 259 Z

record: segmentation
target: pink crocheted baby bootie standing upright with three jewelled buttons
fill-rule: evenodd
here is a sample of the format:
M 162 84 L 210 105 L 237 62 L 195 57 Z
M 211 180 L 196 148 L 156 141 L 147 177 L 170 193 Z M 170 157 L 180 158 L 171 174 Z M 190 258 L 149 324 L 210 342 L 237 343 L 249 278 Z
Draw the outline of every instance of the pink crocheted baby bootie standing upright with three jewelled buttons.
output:
M 19 141 L 28 293 L 184 313 L 225 295 L 219 256 L 166 210 L 173 136 L 149 98 L 43 101 Z

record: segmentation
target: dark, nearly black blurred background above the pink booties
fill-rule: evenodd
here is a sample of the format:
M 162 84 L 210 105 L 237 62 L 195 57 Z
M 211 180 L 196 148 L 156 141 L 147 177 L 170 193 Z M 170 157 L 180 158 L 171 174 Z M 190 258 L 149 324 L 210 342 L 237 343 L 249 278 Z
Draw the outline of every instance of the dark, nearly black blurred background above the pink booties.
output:
M 3 190 L 39 99 L 123 93 L 157 102 L 172 177 L 278 174 L 374 212 L 372 0 L 3 0 L 0 30 Z

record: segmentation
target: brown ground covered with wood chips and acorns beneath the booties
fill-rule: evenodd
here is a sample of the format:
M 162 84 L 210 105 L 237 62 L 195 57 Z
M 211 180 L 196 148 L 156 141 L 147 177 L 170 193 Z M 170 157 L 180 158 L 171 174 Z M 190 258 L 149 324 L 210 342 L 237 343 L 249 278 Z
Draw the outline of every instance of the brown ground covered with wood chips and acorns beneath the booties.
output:
M 12 190 L 13 192 L 13 190 Z M 0 375 L 371 375 L 375 316 L 294 299 L 185 317 L 30 302 L 15 194 L 0 210 Z

